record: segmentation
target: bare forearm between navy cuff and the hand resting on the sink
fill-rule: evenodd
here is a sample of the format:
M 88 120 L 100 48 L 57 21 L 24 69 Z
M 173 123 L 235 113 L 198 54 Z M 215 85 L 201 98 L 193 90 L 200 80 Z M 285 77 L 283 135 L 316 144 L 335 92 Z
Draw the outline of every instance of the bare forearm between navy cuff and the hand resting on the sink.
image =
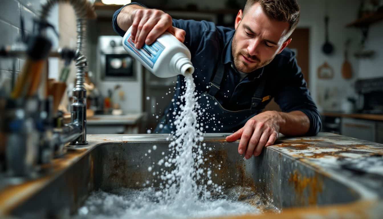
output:
M 279 132 L 283 135 L 305 135 L 310 128 L 310 120 L 301 111 L 279 112 L 281 121 Z

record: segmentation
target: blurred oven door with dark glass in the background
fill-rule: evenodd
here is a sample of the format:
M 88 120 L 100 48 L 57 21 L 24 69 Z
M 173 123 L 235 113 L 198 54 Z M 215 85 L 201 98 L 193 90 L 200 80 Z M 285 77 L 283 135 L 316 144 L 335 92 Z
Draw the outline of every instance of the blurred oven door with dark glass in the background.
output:
M 137 81 L 135 59 L 127 53 L 101 51 L 101 79 L 104 81 Z

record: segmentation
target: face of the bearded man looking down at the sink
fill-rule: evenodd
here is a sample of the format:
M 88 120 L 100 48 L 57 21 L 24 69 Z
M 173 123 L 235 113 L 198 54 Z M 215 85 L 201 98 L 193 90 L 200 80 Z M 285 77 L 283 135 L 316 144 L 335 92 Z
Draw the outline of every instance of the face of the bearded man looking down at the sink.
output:
M 290 43 L 285 34 L 288 22 L 268 18 L 259 3 L 252 5 L 245 15 L 238 12 L 236 33 L 232 41 L 232 55 L 237 70 L 250 73 L 270 63 Z

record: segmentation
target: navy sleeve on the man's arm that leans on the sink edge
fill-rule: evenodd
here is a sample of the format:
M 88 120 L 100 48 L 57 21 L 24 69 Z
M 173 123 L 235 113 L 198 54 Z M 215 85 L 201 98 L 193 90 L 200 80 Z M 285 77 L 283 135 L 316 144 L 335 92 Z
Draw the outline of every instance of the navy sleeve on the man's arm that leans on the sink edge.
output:
M 285 72 L 283 86 L 275 96 L 275 102 L 280 106 L 283 112 L 301 111 L 307 115 L 310 120 L 310 128 L 306 135 L 316 135 L 322 127 L 321 116 L 318 112 L 307 83 L 303 78 L 301 68 L 296 62 L 295 55 L 290 57 L 288 69 Z M 282 85 L 282 84 L 281 84 Z

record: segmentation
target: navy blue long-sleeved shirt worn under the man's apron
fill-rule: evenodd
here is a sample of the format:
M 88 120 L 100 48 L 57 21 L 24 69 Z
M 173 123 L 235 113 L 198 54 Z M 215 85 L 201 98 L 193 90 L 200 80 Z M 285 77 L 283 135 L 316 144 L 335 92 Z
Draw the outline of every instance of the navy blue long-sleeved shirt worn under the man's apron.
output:
M 113 28 L 116 33 L 123 36 L 125 31 L 117 25 L 117 15 L 121 9 L 113 15 Z M 173 19 L 172 23 L 173 26 L 186 31 L 184 44 L 191 53 L 191 62 L 195 68 L 193 77 L 198 94 L 208 92 L 209 82 L 213 80 L 220 54 L 222 54 L 225 71 L 221 87 L 215 97 L 225 109 L 232 111 L 250 109 L 255 86 L 260 77 L 266 77 L 264 96 L 271 98 L 259 104 L 259 109 L 264 109 L 274 98 L 283 112 L 299 110 L 308 116 L 310 128 L 307 135 L 315 135 L 321 130 L 321 117 L 307 89 L 293 51 L 284 49 L 271 63 L 249 73 L 241 81 L 240 74 L 234 67 L 231 49 L 234 29 L 216 26 L 208 21 Z M 175 102 L 184 91 L 181 89 L 182 86 L 185 86 L 183 76 L 178 76 L 174 94 Z M 175 108 L 174 104 L 170 103 L 165 114 L 169 114 L 168 117 L 171 118 L 173 110 L 177 110 Z

